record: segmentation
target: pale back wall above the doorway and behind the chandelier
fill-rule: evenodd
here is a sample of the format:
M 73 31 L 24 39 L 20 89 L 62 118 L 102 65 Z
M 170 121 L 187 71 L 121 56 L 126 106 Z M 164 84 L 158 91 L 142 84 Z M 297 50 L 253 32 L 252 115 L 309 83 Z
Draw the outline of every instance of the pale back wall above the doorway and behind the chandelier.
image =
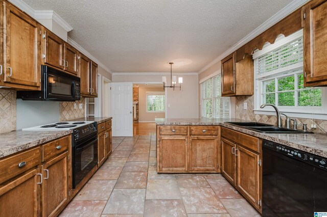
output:
M 112 82 L 161 82 L 162 74 L 158 75 L 112 75 Z M 170 82 L 169 75 L 167 82 Z M 199 79 L 198 75 L 177 75 L 183 77 L 181 91 L 178 88 L 175 91 L 168 88 L 167 91 L 167 117 L 166 118 L 198 118 L 199 117 Z

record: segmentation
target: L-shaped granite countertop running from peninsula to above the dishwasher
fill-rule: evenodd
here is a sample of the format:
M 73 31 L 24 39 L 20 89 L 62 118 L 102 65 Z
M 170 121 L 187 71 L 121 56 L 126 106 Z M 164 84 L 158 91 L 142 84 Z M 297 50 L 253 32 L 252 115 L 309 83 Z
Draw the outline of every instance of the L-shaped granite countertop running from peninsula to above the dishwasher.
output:
M 196 119 L 165 119 L 156 118 L 156 125 L 219 125 L 234 129 L 261 139 L 296 148 L 322 157 L 327 157 L 327 134 L 319 133 L 262 133 L 224 122 L 244 121 L 230 118 L 196 118 Z

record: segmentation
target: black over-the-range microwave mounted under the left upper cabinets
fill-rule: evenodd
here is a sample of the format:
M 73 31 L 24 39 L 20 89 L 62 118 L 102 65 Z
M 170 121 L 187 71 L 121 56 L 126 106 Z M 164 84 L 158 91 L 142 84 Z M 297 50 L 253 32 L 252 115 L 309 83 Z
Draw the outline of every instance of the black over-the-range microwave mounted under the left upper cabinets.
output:
M 81 79 L 49 66 L 41 66 L 41 90 L 17 91 L 22 100 L 76 101 L 81 98 Z

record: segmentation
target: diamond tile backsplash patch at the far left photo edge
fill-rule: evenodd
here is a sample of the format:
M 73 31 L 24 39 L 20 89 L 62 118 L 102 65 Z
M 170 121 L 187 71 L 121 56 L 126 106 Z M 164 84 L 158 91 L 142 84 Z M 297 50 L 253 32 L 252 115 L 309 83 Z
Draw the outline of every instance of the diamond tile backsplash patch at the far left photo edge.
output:
M 0 133 L 16 129 L 16 91 L 0 89 Z

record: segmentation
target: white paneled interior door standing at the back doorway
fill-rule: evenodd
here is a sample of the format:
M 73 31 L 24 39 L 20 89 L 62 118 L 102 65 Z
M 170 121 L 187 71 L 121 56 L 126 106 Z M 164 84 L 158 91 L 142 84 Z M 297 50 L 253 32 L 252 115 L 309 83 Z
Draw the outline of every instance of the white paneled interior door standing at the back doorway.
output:
M 133 136 L 133 84 L 111 83 L 112 136 Z

